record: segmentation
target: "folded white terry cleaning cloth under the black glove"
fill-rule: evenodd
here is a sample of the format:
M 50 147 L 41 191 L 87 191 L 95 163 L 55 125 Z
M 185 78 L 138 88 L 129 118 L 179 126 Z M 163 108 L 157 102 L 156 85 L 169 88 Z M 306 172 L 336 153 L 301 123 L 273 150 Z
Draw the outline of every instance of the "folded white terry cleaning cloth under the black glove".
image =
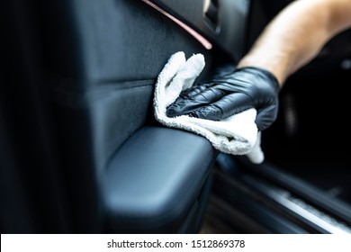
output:
M 235 114 L 223 121 L 211 121 L 188 115 L 167 117 L 166 107 L 179 94 L 190 88 L 205 66 L 202 54 L 185 59 L 183 51 L 172 55 L 157 76 L 154 112 L 157 121 L 167 127 L 192 131 L 210 140 L 213 148 L 231 155 L 246 155 L 255 164 L 265 159 L 261 149 L 261 134 L 255 123 L 256 109 Z

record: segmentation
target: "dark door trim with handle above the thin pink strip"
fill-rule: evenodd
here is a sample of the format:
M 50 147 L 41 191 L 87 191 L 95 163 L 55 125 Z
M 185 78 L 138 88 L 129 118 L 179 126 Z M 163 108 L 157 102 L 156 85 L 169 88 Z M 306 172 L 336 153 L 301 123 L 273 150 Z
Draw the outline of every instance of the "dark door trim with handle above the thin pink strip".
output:
M 193 30 L 202 34 L 205 40 L 223 49 L 233 60 L 238 61 L 242 56 L 245 50 L 250 1 L 146 0 L 144 2 L 157 4 L 157 8 L 190 25 Z

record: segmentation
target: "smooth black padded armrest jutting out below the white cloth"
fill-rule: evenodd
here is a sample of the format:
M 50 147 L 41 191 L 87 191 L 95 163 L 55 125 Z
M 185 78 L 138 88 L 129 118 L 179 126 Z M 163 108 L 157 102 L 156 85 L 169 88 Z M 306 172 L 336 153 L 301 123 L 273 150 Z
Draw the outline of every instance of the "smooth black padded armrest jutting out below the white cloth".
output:
M 112 157 L 101 182 L 111 231 L 175 231 L 169 226 L 183 223 L 216 154 L 207 139 L 187 131 L 138 130 Z

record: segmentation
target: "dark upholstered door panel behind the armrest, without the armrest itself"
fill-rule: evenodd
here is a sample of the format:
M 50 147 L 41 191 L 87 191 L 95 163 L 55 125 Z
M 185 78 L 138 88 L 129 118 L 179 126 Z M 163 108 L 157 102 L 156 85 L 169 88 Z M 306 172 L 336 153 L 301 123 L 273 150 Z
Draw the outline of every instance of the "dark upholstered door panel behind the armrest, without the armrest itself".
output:
M 139 0 L 43 1 L 40 32 L 73 226 L 100 232 L 98 181 L 112 153 L 153 121 L 158 73 L 183 50 L 205 55 L 205 75 L 211 51 Z

